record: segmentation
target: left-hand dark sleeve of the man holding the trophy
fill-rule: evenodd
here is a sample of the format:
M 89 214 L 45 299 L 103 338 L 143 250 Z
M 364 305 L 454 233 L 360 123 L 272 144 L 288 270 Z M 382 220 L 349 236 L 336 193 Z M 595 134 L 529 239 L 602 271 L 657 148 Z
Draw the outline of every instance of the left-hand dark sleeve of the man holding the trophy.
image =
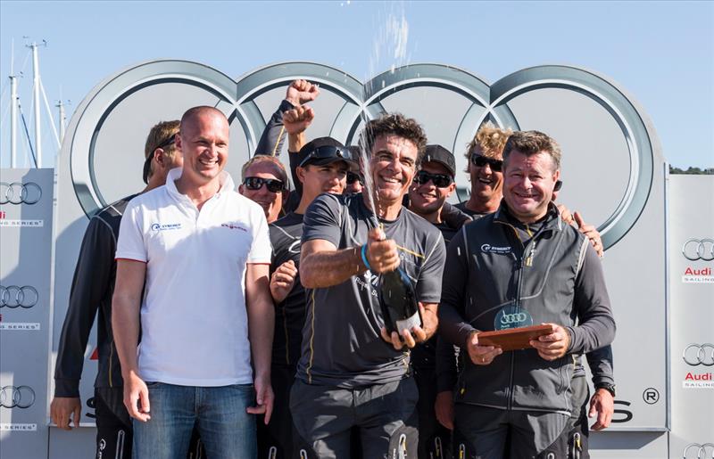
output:
M 466 226 L 454 236 L 446 249 L 441 304 L 439 305 L 439 333 L 456 346 L 464 347 L 471 332 L 476 329 L 464 318 L 464 302 L 469 280 L 468 253 L 465 238 Z

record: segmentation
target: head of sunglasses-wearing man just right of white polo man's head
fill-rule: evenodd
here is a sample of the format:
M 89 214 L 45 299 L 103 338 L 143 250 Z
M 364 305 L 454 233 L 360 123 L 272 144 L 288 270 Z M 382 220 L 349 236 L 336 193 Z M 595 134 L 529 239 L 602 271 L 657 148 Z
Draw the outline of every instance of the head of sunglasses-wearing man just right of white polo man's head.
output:
M 253 156 L 243 165 L 241 178 L 238 193 L 260 204 L 268 223 L 277 220 L 288 195 L 286 170 L 278 158 Z

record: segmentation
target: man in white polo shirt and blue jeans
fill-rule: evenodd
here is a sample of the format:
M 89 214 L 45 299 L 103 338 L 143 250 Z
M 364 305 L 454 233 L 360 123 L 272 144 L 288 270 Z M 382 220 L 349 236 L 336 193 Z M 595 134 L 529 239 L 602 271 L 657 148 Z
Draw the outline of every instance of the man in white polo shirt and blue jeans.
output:
M 273 403 L 268 225 L 223 171 L 221 111 L 188 110 L 176 144 L 183 168 L 129 202 L 117 243 L 112 324 L 134 454 L 186 457 L 196 425 L 209 457 L 253 458 L 253 414 L 268 422 Z

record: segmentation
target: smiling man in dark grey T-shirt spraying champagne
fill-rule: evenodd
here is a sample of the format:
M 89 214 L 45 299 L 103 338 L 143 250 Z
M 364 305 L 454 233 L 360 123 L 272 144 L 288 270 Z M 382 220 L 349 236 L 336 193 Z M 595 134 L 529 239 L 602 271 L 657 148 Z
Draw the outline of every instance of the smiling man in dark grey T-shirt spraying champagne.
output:
M 416 455 L 418 394 L 403 348 L 428 340 L 437 326 L 443 238 L 402 206 L 426 136 L 400 114 L 369 121 L 362 135 L 373 194 L 322 194 L 304 217 L 300 276 L 308 311 L 290 408 L 315 457 L 349 457 L 353 426 L 363 457 Z M 423 321 L 390 336 L 373 282 L 397 266 L 415 282 Z

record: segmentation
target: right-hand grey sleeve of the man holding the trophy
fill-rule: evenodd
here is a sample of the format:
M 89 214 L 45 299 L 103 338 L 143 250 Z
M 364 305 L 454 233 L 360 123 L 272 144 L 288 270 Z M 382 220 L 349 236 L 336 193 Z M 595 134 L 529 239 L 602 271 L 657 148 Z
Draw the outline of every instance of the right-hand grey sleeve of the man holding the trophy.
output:
M 570 334 L 569 353 L 589 353 L 607 346 L 615 339 L 615 318 L 605 285 L 602 263 L 589 242 L 585 259 L 575 281 L 574 310 L 577 326 L 566 327 Z

